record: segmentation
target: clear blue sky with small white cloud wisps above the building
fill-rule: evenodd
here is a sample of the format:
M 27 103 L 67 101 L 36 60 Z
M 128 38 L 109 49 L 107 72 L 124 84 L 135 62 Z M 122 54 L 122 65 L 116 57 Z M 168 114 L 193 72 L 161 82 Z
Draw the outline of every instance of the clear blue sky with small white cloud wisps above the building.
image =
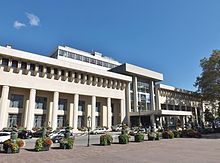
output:
M 195 90 L 199 61 L 220 49 L 218 0 L 2 0 L 0 44 L 50 54 L 99 51 Z

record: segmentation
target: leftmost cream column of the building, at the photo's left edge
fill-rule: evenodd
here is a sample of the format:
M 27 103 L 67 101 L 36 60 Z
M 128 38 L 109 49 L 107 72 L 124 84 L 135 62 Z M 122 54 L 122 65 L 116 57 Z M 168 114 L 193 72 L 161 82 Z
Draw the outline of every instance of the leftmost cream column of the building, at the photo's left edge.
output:
M 2 87 L 2 96 L 0 103 L 0 130 L 7 126 L 7 110 L 8 110 L 8 94 L 9 94 L 9 86 Z

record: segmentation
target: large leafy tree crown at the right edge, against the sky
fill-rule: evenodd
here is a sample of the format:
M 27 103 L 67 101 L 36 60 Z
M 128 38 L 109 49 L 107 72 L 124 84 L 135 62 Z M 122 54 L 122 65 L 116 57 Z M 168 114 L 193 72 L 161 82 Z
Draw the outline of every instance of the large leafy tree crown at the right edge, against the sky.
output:
M 200 61 L 202 73 L 195 86 L 203 100 L 214 103 L 220 101 L 220 50 L 214 50 L 209 58 Z

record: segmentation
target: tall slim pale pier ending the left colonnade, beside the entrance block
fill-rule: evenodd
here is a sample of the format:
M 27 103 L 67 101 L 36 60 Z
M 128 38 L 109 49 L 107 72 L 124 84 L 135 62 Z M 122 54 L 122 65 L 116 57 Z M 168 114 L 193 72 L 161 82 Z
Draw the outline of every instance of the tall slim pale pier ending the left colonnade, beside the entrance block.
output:
M 130 112 L 131 112 L 131 93 L 130 93 L 130 83 L 126 87 L 126 123 L 130 126 Z

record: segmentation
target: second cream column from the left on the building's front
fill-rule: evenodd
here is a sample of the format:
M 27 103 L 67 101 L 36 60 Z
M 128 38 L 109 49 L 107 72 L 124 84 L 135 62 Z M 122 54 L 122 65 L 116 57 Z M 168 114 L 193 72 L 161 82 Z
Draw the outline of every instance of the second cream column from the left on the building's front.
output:
M 27 130 L 31 130 L 34 124 L 34 109 L 35 109 L 36 89 L 30 90 L 28 116 L 27 116 Z

